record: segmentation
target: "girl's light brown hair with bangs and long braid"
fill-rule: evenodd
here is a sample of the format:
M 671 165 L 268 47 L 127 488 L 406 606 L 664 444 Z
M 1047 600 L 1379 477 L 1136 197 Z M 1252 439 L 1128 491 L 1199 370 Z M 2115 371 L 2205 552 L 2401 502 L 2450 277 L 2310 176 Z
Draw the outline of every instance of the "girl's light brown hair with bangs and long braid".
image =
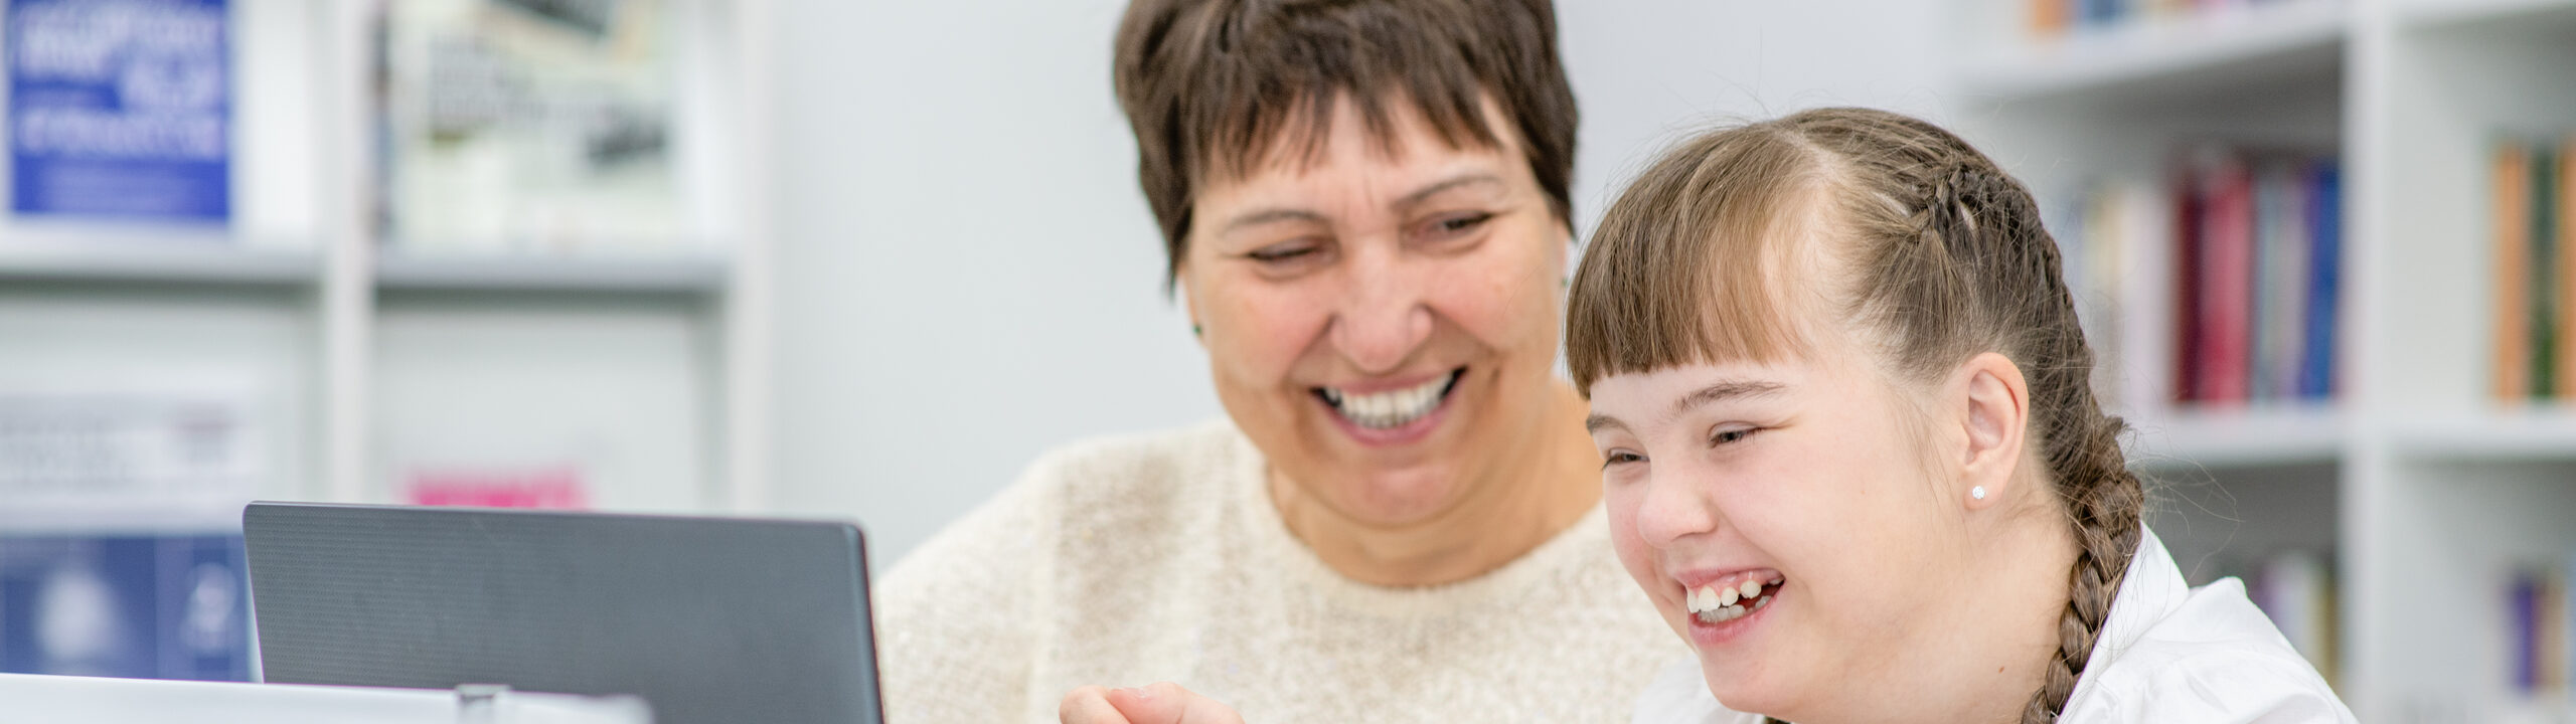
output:
M 2030 191 L 1965 139 L 1888 111 L 1816 108 L 1682 142 L 1610 206 L 1566 304 L 1579 389 L 1610 374 L 1798 348 L 1785 289 L 1759 278 L 1765 240 L 1824 198 L 1852 278 L 1834 309 L 1932 381 L 1976 353 L 2030 381 L 2030 438 L 2076 541 L 2058 649 L 2022 721 L 2056 721 L 2143 536 L 2146 490 L 2120 453 L 2120 417 L 2089 386 L 2058 245 Z M 1708 319 L 1731 319 L 1710 325 Z

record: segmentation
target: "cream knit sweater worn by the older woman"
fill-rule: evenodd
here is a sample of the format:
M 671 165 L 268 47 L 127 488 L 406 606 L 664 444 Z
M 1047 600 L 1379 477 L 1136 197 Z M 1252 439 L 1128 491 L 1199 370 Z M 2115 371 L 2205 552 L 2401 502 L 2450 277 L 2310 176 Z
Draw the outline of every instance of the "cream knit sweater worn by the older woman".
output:
M 1437 587 L 1352 582 L 1280 523 L 1231 423 L 1048 453 L 878 582 L 886 721 L 1056 721 L 1175 680 L 1252 724 L 1623 721 L 1687 654 L 1600 508 Z

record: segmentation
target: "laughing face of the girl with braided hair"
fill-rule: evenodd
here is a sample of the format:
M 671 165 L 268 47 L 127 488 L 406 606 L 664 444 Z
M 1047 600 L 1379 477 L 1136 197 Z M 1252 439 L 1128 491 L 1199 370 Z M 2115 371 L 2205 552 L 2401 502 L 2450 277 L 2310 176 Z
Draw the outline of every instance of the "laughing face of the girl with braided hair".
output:
M 1793 716 L 1883 680 L 1978 590 L 1924 453 L 1940 425 L 1873 350 L 1808 358 L 1592 384 L 1618 557 L 1739 711 Z

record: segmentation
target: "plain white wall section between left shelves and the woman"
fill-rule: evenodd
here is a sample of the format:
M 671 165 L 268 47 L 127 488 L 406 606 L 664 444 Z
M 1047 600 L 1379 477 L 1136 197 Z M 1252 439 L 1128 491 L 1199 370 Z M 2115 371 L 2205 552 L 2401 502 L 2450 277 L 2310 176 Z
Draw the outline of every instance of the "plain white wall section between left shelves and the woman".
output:
M 1216 415 L 1110 98 L 1118 3 L 778 8 L 778 464 L 884 569 L 1074 438 Z

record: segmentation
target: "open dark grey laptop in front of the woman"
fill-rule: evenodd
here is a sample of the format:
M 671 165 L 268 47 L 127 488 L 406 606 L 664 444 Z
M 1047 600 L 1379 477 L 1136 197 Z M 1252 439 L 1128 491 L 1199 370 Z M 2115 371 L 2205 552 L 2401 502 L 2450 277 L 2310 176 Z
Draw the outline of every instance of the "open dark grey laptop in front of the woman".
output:
M 858 526 L 252 502 L 268 683 L 641 696 L 654 721 L 878 724 Z

